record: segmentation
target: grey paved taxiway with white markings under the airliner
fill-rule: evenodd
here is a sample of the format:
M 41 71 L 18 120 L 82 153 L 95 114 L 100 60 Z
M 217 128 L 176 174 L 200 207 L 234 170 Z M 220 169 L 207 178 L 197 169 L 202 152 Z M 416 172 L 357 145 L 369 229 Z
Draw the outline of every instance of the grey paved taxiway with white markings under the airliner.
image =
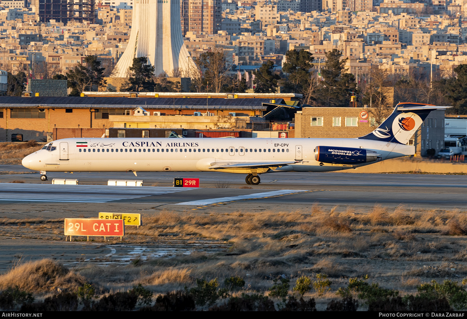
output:
M 389 208 L 400 204 L 416 209 L 467 208 L 467 178 L 464 175 L 272 173 L 262 174 L 260 185 L 248 186 L 244 175 L 228 173 L 140 172 L 137 178 L 131 173 L 48 174 L 50 180 L 77 178 L 80 184 L 86 184 L 68 186 L 41 182 L 38 173 L 28 174 L 29 170 L 22 166 L 0 166 L 0 171 L 26 173 L 0 175 L 0 217 L 7 218 L 18 218 L 19 214 L 36 210 L 32 208 L 41 208 L 37 210 L 42 210 L 42 217 L 61 218 L 61 214 L 46 214 L 44 210 L 72 210 L 76 214 L 90 210 L 109 211 L 110 208 L 119 211 L 183 210 L 219 203 L 222 204 L 218 206 L 240 210 L 303 209 L 316 203 L 342 208 L 369 208 L 375 204 Z M 174 177 L 199 178 L 201 187 L 171 187 Z M 144 180 L 145 186 L 111 187 L 106 186 L 108 179 Z M 9 183 L 13 180 L 25 184 Z

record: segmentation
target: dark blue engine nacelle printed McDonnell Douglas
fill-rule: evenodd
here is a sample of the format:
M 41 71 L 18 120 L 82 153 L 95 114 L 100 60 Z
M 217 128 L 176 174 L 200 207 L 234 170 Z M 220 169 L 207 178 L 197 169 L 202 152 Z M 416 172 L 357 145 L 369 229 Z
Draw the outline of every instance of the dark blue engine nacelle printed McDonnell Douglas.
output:
M 364 148 L 316 146 L 315 159 L 330 164 L 363 164 L 382 159 L 381 154 Z

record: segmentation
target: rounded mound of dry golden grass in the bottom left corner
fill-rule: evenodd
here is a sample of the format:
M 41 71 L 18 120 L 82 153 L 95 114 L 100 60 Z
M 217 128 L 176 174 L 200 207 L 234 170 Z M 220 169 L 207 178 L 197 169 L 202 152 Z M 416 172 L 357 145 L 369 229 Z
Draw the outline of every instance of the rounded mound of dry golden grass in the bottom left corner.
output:
M 0 290 L 18 286 L 21 290 L 32 292 L 57 291 L 57 288 L 75 291 L 85 282 L 84 277 L 63 265 L 51 259 L 42 259 L 17 264 L 6 274 L 0 275 Z

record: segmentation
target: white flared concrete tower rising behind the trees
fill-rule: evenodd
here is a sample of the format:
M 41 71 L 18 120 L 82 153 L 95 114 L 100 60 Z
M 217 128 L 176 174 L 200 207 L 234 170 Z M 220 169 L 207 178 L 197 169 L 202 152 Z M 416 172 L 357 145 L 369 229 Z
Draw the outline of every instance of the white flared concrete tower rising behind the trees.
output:
M 180 26 L 180 0 L 136 0 L 127 49 L 117 62 L 113 77 L 127 77 L 133 58 L 146 56 L 154 75 L 173 70 L 190 77 L 197 67 L 184 46 Z

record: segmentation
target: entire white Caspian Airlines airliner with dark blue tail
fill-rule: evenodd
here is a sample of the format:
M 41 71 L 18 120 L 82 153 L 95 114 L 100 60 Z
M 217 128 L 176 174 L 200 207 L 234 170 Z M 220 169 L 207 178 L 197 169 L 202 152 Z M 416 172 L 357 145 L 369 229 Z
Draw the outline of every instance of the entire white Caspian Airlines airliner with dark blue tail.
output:
M 406 145 L 431 111 L 448 106 L 399 103 L 375 131 L 355 139 L 59 139 L 26 156 L 41 172 L 329 172 L 415 153 Z

